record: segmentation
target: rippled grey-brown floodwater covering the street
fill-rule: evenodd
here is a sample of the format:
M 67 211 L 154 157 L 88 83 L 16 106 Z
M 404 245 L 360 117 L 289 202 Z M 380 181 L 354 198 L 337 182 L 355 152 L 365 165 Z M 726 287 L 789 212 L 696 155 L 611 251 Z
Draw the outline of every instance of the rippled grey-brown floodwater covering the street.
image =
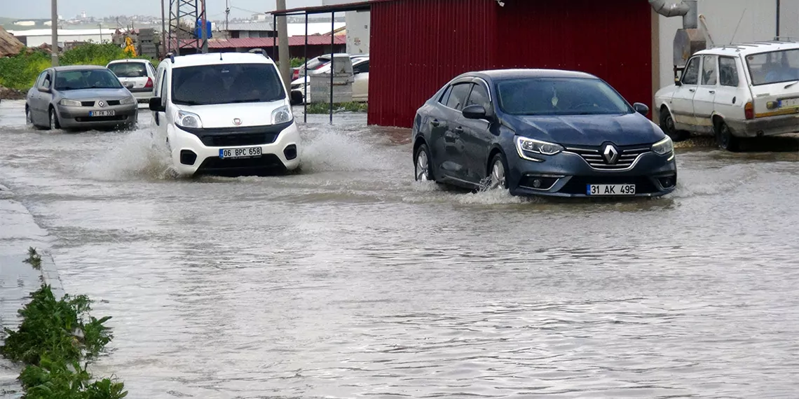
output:
M 308 124 L 300 174 L 176 180 L 145 110 L 23 119 L 2 102 L 0 183 L 113 316 L 93 372 L 131 398 L 799 397 L 796 140 L 553 202 L 417 184 L 402 129 Z

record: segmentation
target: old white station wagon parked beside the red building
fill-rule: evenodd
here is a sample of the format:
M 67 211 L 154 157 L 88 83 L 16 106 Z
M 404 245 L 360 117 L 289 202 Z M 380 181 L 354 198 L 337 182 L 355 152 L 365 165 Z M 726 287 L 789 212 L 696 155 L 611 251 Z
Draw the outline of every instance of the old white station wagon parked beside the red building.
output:
M 799 43 L 763 41 L 698 51 L 679 81 L 655 93 L 660 126 L 675 141 L 712 133 L 737 151 L 741 137 L 799 132 Z

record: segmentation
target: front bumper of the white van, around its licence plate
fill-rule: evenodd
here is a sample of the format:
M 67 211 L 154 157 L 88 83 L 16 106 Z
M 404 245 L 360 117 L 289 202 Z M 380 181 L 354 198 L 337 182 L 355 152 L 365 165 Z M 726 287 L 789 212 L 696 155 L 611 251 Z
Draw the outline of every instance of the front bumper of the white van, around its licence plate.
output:
M 272 133 L 276 130 L 278 132 Z M 293 120 L 284 128 L 198 129 L 189 132 L 176 127 L 174 134 L 169 136 L 173 166 L 185 176 L 288 172 L 300 166 L 300 131 Z M 264 136 L 267 138 L 261 140 Z M 223 148 L 252 147 L 260 147 L 261 155 L 232 159 L 220 157 Z

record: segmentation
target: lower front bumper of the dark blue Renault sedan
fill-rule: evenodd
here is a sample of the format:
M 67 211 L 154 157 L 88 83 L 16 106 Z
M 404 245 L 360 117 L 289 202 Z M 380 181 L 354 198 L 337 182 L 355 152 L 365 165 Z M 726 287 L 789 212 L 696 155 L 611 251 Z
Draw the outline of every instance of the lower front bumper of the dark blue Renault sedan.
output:
M 591 168 L 583 158 L 570 152 L 542 157 L 544 162 L 525 160 L 515 154 L 508 160 L 511 169 L 508 183 L 515 196 L 554 196 L 607 198 L 589 196 L 589 184 L 635 184 L 634 196 L 657 197 L 677 188 L 677 163 L 674 157 L 654 152 L 642 154 L 632 168 L 602 171 Z M 536 182 L 538 180 L 538 182 Z M 537 186 L 537 187 L 536 187 Z

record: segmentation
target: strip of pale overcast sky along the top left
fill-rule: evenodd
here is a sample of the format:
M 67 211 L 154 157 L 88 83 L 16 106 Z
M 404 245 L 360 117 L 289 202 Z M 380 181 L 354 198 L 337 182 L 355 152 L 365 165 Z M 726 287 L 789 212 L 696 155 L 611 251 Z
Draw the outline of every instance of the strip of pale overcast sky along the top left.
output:
M 164 0 L 169 10 L 169 0 Z M 229 0 L 232 18 L 275 9 L 275 0 Z M 0 0 L 0 17 L 50 18 L 50 0 Z M 320 6 L 322 0 L 286 0 L 288 8 Z M 225 0 L 205 0 L 209 18 L 225 17 Z M 161 15 L 161 0 L 58 0 L 58 14 L 73 18 L 85 11 L 92 17 L 109 15 Z M 169 12 L 169 11 L 167 11 Z

